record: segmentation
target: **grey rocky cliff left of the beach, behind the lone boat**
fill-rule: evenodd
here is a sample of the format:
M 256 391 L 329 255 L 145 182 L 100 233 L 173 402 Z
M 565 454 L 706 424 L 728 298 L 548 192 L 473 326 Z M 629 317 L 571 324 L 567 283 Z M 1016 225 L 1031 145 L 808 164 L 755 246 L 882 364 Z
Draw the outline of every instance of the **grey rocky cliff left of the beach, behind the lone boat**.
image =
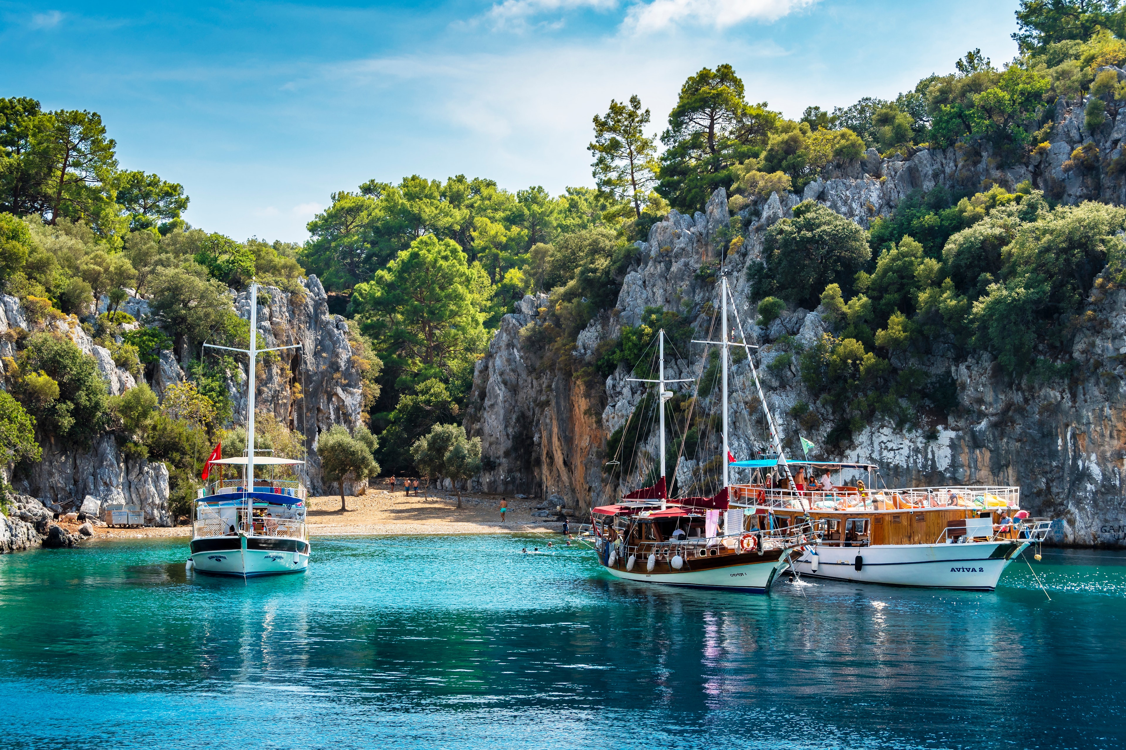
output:
M 257 408 L 271 412 L 279 422 L 305 436 L 310 453 L 307 485 L 311 491 L 320 493 L 323 481 L 315 453 L 318 436 L 333 424 L 343 424 L 349 430 L 358 424 L 361 389 L 359 374 L 351 362 L 348 324 L 339 315 L 329 313 L 328 296 L 316 277 L 302 283 L 304 291 L 301 293 L 287 293 L 272 287 L 259 290 L 259 347 L 289 344 L 302 347 L 259 359 Z M 231 293 L 239 315 L 249 318 L 249 291 Z M 131 298 L 123 309 L 144 324 L 160 325 L 143 299 Z M 48 316 L 45 320 L 33 322 L 17 298 L 0 296 L 0 356 L 16 355 L 20 329 L 47 331 L 69 337 L 93 356 L 111 395 L 120 395 L 136 386 L 132 374 L 114 364 L 109 351 L 93 343 L 77 317 Z M 188 352 L 181 354 L 185 359 L 190 356 Z M 239 370 L 231 372 L 227 380 L 234 419 L 243 423 L 247 415 L 245 356 L 236 356 L 235 362 Z M 163 352 L 150 377 L 153 390 L 162 396 L 169 386 L 185 380 L 185 372 L 172 352 Z M 12 481 L 17 491 L 38 498 L 56 513 L 72 509 L 100 515 L 105 504 L 124 503 L 140 506 L 148 525 L 168 526 L 176 521 L 168 508 L 168 479 L 164 464 L 126 459 L 115 436 L 107 434 L 84 450 L 48 441 L 43 445 L 42 461 L 25 467 Z M 355 491 L 359 487 L 351 489 Z M 11 528 L 8 533 L 19 536 Z

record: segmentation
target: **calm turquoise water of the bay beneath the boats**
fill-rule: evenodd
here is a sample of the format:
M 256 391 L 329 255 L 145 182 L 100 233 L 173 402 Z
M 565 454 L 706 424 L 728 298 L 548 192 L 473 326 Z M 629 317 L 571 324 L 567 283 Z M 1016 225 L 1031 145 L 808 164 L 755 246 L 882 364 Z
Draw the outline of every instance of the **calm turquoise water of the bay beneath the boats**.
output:
M 182 541 L 0 557 L 6 748 L 1124 744 L 1126 557 L 994 594 L 645 587 L 531 537 L 314 541 L 189 577 Z

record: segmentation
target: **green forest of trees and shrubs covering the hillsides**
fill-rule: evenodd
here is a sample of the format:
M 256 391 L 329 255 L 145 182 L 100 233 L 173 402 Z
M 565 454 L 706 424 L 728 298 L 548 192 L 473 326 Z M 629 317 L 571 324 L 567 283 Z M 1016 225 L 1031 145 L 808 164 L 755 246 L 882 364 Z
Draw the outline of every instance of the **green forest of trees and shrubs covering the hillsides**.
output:
M 5 293 L 36 319 L 77 316 L 133 372 L 171 351 L 190 378 L 171 404 L 157 404 L 148 387 L 111 398 L 73 344 L 10 334 L 18 354 L 3 362 L 0 460 L 34 460 L 45 440 L 82 444 L 113 431 L 128 451 L 167 461 L 179 496 L 190 496 L 199 451 L 231 428 L 225 382 L 235 370 L 204 359 L 199 344 L 248 335 L 227 290 L 257 279 L 301 293 L 300 279 L 315 273 L 355 323 L 375 458 L 386 473 L 413 471 L 411 446 L 435 425 L 461 421 L 473 368 L 524 295 L 549 293 L 546 324 L 529 332 L 544 353 L 539 367 L 581 378 L 635 365 L 659 318 L 682 323 L 690 310 L 654 311 L 652 325 L 605 342 L 596 365 L 571 355 L 579 332 L 614 307 L 633 243 L 670 208 L 700 210 L 723 187 L 749 223 L 772 192 L 801 192 L 870 148 L 909 157 L 988 145 L 990 159 L 1015 164 L 1047 147 L 1060 98 L 1085 97 L 1091 132 L 1117 115 L 1126 102 L 1126 83 L 1108 69 L 1126 63 L 1117 0 L 1022 0 L 1017 27 L 1020 53 L 1008 63 L 972 51 L 894 99 L 810 106 L 797 119 L 756 103 L 731 65 L 705 67 L 685 81 L 661 127 L 636 96 L 593 116 L 593 187 L 552 196 L 465 175 L 369 180 L 333 193 L 303 245 L 189 226 L 184 187 L 120 169 L 96 112 L 0 99 Z M 1082 172 L 1105 156 L 1083 146 L 1066 169 Z M 1109 169 L 1126 171 L 1126 157 Z M 923 400 L 955 408 L 953 383 L 929 381 L 913 364 L 936 342 L 989 351 L 1015 379 L 1066 377 L 1052 352 L 1084 319 L 1084 299 L 1092 287 L 1126 281 L 1126 210 L 1009 188 L 918 193 L 867 231 L 807 202 L 770 228 L 765 263 L 751 270 L 753 301 L 762 324 L 797 306 L 823 305 L 834 319 L 833 335 L 793 353 L 833 410 L 833 441 L 873 415 L 906 421 Z M 738 247 L 743 229 L 733 222 L 720 252 Z M 152 319 L 117 310 L 129 295 L 150 300 Z M 133 323 L 141 325 L 122 328 Z M 276 432 L 287 440 L 283 426 Z

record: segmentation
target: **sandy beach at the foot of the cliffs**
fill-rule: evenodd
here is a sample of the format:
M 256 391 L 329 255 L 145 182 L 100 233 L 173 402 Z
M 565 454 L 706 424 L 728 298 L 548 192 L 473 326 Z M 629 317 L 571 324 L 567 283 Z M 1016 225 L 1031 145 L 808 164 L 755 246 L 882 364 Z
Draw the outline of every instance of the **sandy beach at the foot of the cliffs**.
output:
M 340 496 L 328 495 L 309 499 L 310 536 L 376 535 L 376 534 L 504 534 L 513 532 L 558 532 L 562 524 L 547 518 L 534 518 L 531 510 L 538 499 L 508 498 L 507 523 L 500 522 L 500 495 L 440 493 L 437 496 L 405 497 L 402 490 L 392 495 L 386 489 L 370 489 L 360 497 L 347 498 L 347 510 L 340 510 Z M 572 521 L 572 526 L 575 521 Z M 149 536 L 190 536 L 190 526 L 171 528 L 104 528 L 95 530 L 97 539 L 142 539 Z

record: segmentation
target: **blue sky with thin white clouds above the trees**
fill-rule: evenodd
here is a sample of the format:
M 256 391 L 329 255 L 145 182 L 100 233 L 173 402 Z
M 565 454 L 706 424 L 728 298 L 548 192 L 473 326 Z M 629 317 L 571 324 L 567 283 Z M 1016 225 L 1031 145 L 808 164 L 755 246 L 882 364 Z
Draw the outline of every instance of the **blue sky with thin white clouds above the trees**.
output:
M 184 183 L 195 226 L 303 241 L 337 190 L 408 174 L 592 184 L 591 117 L 663 127 L 729 62 L 789 117 L 894 97 L 1016 45 L 1017 0 L 0 0 L 0 96 L 101 114 L 123 168 Z

